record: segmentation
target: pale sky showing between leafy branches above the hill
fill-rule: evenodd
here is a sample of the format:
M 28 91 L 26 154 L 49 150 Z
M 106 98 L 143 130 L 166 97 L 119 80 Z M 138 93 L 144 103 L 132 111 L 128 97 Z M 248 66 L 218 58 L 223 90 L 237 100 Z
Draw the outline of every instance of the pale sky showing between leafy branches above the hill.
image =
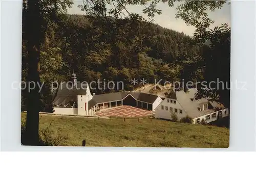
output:
M 73 7 L 69 9 L 68 13 L 84 14 L 84 12 L 77 7 L 78 5 L 81 5 L 81 4 L 82 4 L 82 1 L 74 0 Z M 176 7 L 178 4 L 179 3 L 175 3 L 175 6 L 173 8 L 170 8 L 166 3 L 165 4 L 159 3 L 157 8 L 162 10 L 162 14 L 155 15 L 154 23 L 157 23 L 164 28 L 172 29 L 178 32 L 183 32 L 186 35 L 192 36 L 195 31 L 195 28 L 186 25 L 182 19 L 175 18 L 175 14 L 177 13 Z M 144 9 L 143 6 L 127 6 L 126 9 L 130 13 L 131 12 L 138 13 L 147 19 L 147 14 L 142 13 L 142 9 Z M 209 15 L 209 18 L 215 21 L 214 25 L 212 25 L 213 27 L 219 26 L 222 23 L 228 23 L 230 25 L 230 5 L 228 5 L 227 3 L 222 7 L 222 9 L 215 10 L 214 12 L 209 11 L 208 15 Z

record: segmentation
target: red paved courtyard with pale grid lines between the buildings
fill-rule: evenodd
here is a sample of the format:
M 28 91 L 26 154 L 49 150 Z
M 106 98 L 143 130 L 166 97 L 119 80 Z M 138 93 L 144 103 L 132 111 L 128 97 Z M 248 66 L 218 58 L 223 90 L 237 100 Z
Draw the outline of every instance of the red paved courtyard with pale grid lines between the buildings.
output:
M 153 111 L 143 110 L 132 106 L 120 106 L 98 111 L 95 115 L 111 117 L 145 117 L 153 114 Z

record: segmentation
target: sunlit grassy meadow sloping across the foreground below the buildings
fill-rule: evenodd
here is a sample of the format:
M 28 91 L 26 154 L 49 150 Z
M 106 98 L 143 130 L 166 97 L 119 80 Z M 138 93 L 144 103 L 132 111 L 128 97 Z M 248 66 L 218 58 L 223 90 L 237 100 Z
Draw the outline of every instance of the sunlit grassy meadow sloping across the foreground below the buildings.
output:
M 22 113 L 22 121 L 26 113 Z M 49 127 L 49 125 L 51 126 Z M 54 137 L 66 136 L 59 145 L 126 147 L 215 147 L 229 146 L 229 130 L 224 127 L 193 125 L 163 120 L 87 119 L 40 115 L 39 130 L 49 127 Z

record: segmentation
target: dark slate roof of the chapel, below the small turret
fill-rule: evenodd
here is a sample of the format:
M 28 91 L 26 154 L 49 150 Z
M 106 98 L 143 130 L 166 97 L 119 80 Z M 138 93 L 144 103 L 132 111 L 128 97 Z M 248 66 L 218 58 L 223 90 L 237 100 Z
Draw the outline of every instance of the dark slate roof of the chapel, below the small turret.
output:
M 81 86 L 80 83 L 73 88 L 71 83 L 62 83 L 56 90 L 52 104 L 64 106 L 68 103 L 77 103 L 77 95 L 86 95 L 86 89 L 87 85 Z

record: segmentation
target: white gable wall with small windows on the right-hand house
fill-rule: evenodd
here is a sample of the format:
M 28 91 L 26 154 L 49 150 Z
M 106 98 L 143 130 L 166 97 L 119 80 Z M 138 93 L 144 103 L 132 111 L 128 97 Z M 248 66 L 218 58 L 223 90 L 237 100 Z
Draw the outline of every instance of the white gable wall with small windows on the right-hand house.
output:
M 178 100 L 176 99 L 172 99 L 172 100 L 176 100 L 176 104 L 174 103 L 169 103 L 167 102 L 167 99 L 170 100 L 170 98 L 165 98 L 162 103 L 160 105 L 158 105 L 158 107 L 155 110 L 155 118 L 159 119 L 172 119 L 172 113 L 170 112 L 170 107 L 173 108 L 173 113 L 175 113 L 178 117 L 178 121 L 182 118 L 186 116 L 186 112 L 182 109 L 181 105 L 178 103 Z M 161 109 L 161 106 L 164 106 L 164 109 Z M 168 107 L 168 110 L 165 110 L 165 107 Z M 178 112 L 175 112 L 175 109 L 178 109 Z M 182 110 L 182 114 L 180 114 L 180 110 Z

